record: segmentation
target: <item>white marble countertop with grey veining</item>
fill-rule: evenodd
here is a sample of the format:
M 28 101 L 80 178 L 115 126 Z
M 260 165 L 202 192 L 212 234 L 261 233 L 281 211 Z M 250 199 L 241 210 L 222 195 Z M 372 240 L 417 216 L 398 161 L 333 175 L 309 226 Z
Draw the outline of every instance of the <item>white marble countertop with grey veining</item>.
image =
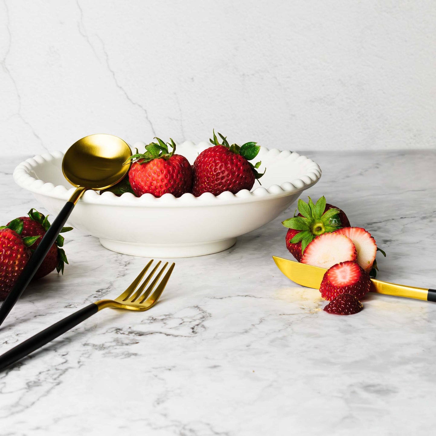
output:
M 341 207 L 387 257 L 378 278 L 436 287 L 436 152 L 305 153 L 323 170 L 303 193 Z M 0 222 L 37 202 L 0 161 Z M 280 221 L 224 252 L 176 259 L 149 312 L 106 309 L 0 373 L 6 435 L 434 434 L 436 303 L 370 294 L 330 315 L 317 290 L 276 268 Z M 38 208 L 43 211 L 42 208 Z M 147 259 L 65 234 L 70 262 L 27 288 L 0 329 L 0 352 L 119 294 Z

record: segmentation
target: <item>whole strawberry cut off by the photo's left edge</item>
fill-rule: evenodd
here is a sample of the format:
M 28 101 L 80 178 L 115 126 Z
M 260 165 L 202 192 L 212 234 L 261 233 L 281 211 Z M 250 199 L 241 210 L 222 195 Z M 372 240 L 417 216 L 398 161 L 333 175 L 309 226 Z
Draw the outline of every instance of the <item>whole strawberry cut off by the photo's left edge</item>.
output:
M 0 228 L 0 300 L 4 300 L 31 256 L 28 248 L 41 236 L 21 237 L 23 221 Z

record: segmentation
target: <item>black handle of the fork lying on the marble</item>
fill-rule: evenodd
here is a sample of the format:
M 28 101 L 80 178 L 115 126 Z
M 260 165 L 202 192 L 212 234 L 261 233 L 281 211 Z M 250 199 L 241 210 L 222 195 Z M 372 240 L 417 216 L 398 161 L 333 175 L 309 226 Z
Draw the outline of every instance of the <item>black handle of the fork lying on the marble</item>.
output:
M 94 315 L 94 313 L 97 313 L 98 310 L 99 307 L 95 303 L 91 303 L 89 306 L 78 310 L 63 320 L 58 321 L 56 324 L 40 331 L 26 341 L 21 342 L 21 344 L 18 344 L 16 347 L 0 356 L 0 371 L 3 371 L 3 369 L 7 368 L 10 364 L 24 358 L 27 354 L 31 354 L 43 345 L 48 344 L 48 342 L 53 341 L 54 338 L 61 336 L 61 334 L 72 329 L 77 324 L 80 324 L 91 315 Z

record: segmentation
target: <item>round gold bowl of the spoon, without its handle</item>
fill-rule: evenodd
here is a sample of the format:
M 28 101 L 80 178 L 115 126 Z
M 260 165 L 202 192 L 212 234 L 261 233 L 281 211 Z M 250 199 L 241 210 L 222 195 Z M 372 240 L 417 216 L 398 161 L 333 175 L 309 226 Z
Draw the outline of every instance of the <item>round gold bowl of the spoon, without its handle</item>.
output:
M 89 135 L 66 151 L 62 172 L 72 185 L 98 191 L 118 183 L 127 174 L 130 165 L 123 164 L 130 156 L 130 147 L 117 136 Z

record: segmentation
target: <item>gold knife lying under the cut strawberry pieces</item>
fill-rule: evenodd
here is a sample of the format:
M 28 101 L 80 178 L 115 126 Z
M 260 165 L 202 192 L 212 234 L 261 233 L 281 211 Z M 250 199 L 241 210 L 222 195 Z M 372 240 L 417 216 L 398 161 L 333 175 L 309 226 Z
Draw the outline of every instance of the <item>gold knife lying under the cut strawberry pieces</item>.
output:
M 294 262 L 289 259 L 283 259 L 283 257 L 272 256 L 272 259 L 274 259 L 279 270 L 283 272 L 288 279 L 307 288 L 320 289 L 321 281 L 327 269 Z M 379 294 L 436 302 L 436 289 L 397 285 L 396 283 L 383 282 L 377 279 L 371 279 L 370 291 Z

